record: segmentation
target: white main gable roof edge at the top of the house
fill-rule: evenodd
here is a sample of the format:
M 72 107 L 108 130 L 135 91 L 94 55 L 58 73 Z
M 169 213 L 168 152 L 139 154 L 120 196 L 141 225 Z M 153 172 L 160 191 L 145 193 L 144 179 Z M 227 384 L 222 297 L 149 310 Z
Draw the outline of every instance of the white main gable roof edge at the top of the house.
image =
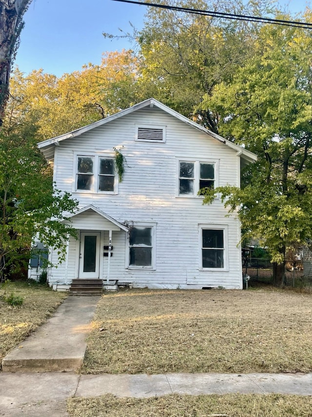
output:
M 161 110 L 165 111 L 166 113 L 170 114 L 171 116 L 176 117 L 178 120 L 181 120 L 182 122 L 186 123 L 187 125 L 190 125 L 192 127 L 195 127 L 196 129 L 200 130 L 201 132 L 211 136 L 215 140 L 223 143 L 226 146 L 229 146 L 230 148 L 234 149 L 238 152 L 238 155 L 245 160 L 246 163 L 256 161 L 257 157 L 254 153 L 246 150 L 245 148 L 235 145 L 233 142 L 222 138 L 221 136 L 217 135 L 214 132 L 211 132 L 210 130 L 206 129 L 205 127 L 198 125 L 197 123 L 193 122 L 192 120 L 188 119 L 187 117 L 183 116 L 182 114 L 178 113 L 177 111 L 173 110 L 172 108 L 166 106 L 165 104 L 162 104 L 158 102 L 156 99 L 148 99 L 144 100 L 141 103 L 135 104 L 131 107 L 126 108 L 125 110 L 121 110 L 118 113 L 115 113 L 111 116 L 106 117 L 105 119 L 101 119 L 98 122 L 94 122 L 91 125 L 80 127 L 79 129 L 73 130 L 68 133 L 64 133 L 63 135 L 57 136 L 52 139 L 47 139 L 45 141 L 39 142 L 38 147 L 43 152 L 44 156 L 48 160 L 53 160 L 54 156 L 54 147 L 59 146 L 59 142 L 62 142 L 67 139 L 72 139 L 75 137 L 78 137 L 82 135 L 85 132 L 88 132 L 89 130 L 92 130 L 96 127 L 106 125 L 107 123 L 112 122 L 113 120 L 116 120 L 122 116 L 125 116 L 127 114 L 133 113 L 137 110 L 140 110 L 144 107 L 153 107 L 156 106 L 160 108 Z

